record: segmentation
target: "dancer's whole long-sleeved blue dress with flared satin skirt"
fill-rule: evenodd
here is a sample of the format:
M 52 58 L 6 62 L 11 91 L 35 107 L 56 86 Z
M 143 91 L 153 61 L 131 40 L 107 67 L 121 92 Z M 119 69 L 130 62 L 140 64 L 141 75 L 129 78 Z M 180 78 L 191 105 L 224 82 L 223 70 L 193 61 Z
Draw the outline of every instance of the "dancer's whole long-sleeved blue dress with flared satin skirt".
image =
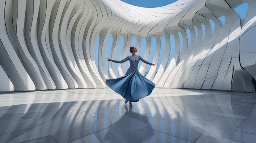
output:
M 138 55 L 135 59 L 132 56 L 128 56 L 121 61 L 114 60 L 113 62 L 123 63 L 128 60 L 130 61 L 130 67 L 126 71 L 126 74 L 116 79 L 107 79 L 106 84 L 124 97 L 124 99 L 137 102 L 139 99 L 150 95 L 155 88 L 155 84 L 139 73 L 138 64 L 140 60 L 146 64 L 150 64 L 141 56 Z

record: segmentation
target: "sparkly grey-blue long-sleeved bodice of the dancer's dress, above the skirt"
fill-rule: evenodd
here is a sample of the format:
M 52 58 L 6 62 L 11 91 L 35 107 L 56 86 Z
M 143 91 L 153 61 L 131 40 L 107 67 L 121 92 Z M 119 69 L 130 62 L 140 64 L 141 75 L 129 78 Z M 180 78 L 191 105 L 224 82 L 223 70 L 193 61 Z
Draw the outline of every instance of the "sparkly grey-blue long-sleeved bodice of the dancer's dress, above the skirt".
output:
M 141 62 L 144 62 L 146 64 L 150 64 L 150 62 L 146 61 L 145 59 L 143 59 L 141 56 L 137 55 L 137 57 L 134 59 L 132 58 L 132 56 L 128 56 L 125 59 L 122 59 L 121 61 L 116 61 L 114 60 L 113 62 L 115 63 L 123 63 L 128 61 L 130 62 L 130 67 L 128 68 L 128 70 L 126 71 L 125 75 L 128 75 L 129 73 L 132 73 L 132 71 L 137 70 L 138 69 L 138 64 L 139 61 L 141 60 Z

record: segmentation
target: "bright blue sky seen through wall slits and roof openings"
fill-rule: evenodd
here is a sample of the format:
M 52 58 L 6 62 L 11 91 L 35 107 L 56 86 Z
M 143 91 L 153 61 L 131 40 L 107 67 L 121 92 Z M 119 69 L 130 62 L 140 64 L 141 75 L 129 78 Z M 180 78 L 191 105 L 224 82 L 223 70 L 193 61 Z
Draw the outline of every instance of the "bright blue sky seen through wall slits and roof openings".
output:
M 132 4 L 132 5 L 136 5 L 136 6 L 139 6 L 139 7 L 162 7 L 162 6 L 165 6 L 165 5 L 168 5 L 168 4 L 171 4 L 173 2 L 176 2 L 177 0 L 121 0 L 123 2 L 126 2 L 126 3 L 129 3 L 129 4 Z M 240 17 L 242 19 L 244 19 L 245 17 L 245 14 L 246 14 L 246 11 L 247 11 L 247 7 L 248 7 L 248 4 L 247 3 L 244 3 L 244 4 L 241 4 L 240 6 L 236 7 L 234 10 L 240 15 Z M 220 21 L 222 21 L 222 23 L 225 22 L 225 17 L 222 16 L 219 18 Z M 211 22 L 211 20 L 210 20 Z M 214 29 L 214 23 L 211 22 L 211 26 L 212 26 L 212 29 Z M 204 29 L 204 26 L 202 25 L 202 28 Z M 189 30 L 186 30 L 186 33 L 188 35 L 188 45 L 189 45 L 189 42 L 190 42 L 190 31 Z M 179 34 L 180 35 L 180 34 Z M 204 35 L 204 31 L 203 31 L 203 35 Z M 181 36 L 181 35 L 180 35 Z M 197 33 L 195 35 L 197 37 Z M 181 41 L 180 41 L 180 46 L 182 47 L 182 37 L 180 37 Z M 106 52 L 105 52 L 105 57 L 108 58 L 109 57 L 109 53 L 110 53 L 110 48 L 112 46 L 112 35 L 110 35 L 108 37 L 108 42 L 106 44 Z M 173 56 L 173 53 L 174 53 L 174 47 L 175 47 L 175 39 L 173 37 L 173 35 L 170 35 L 170 42 L 171 42 L 171 52 L 170 52 L 170 57 Z M 153 55 L 154 55 L 154 51 L 155 51 L 155 38 L 151 38 L 150 40 L 150 59 L 148 59 L 148 62 L 153 62 Z M 123 48 L 123 45 L 124 45 L 124 40 L 122 39 L 122 37 L 120 38 L 120 42 L 119 42 L 119 47 L 118 47 L 118 51 L 117 53 L 121 53 L 121 50 Z M 130 44 L 131 46 L 136 46 L 136 38 L 132 38 L 132 42 Z M 141 57 L 143 57 L 144 55 L 144 50 L 145 50 L 145 45 L 146 45 L 146 40 L 145 38 L 142 38 L 141 40 L 141 47 L 137 47 L 137 48 L 140 48 L 140 51 L 139 53 L 137 53 L 137 55 L 140 55 Z M 165 52 L 165 39 L 161 37 L 161 47 L 160 48 L 160 58 L 159 58 L 159 63 L 162 62 L 162 58 L 164 57 L 164 52 Z M 94 46 L 94 58 L 95 58 L 95 62 L 96 62 L 96 66 L 98 67 L 98 48 L 99 48 L 99 35 L 97 36 L 97 39 L 95 41 L 95 46 Z M 180 49 L 181 50 L 181 49 Z M 120 54 L 117 54 L 117 55 L 120 55 Z M 128 55 L 130 55 L 130 53 L 128 52 Z M 114 59 L 114 58 L 112 58 Z M 119 57 L 115 57 L 115 60 L 119 60 Z M 170 58 L 171 60 L 171 58 Z M 168 62 L 170 62 L 170 60 Z M 107 75 L 108 75 L 108 61 L 106 60 L 105 61 L 106 63 L 106 71 L 107 71 Z M 141 64 L 141 62 L 139 63 L 139 65 Z M 126 62 L 125 63 L 125 69 L 124 71 L 126 71 L 128 69 L 128 66 L 129 66 L 129 62 Z M 160 64 L 157 65 L 157 69 L 159 68 Z M 118 64 L 115 64 L 115 73 L 117 75 L 117 67 L 118 67 Z M 147 70 L 150 69 L 150 66 L 147 66 Z

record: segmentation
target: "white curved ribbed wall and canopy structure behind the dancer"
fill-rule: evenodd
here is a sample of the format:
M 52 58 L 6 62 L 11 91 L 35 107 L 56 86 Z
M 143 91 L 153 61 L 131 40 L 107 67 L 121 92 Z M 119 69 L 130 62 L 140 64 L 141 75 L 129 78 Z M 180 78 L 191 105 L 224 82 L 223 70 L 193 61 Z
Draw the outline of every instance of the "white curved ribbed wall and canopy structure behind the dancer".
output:
M 234 9 L 244 2 L 249 7 L 241 19 Z M 0 91 L 105 88 L 106 79 L 125 73 L 125 64 L 109 62 L 106 69 L 106 58 L 124 59 L 136 46 L 158 65 L 139 67 L 158 88 L 255 92 L 255 9 L 255 0 L 179 0 L 158 8 L 120 0 L 0 0 Z

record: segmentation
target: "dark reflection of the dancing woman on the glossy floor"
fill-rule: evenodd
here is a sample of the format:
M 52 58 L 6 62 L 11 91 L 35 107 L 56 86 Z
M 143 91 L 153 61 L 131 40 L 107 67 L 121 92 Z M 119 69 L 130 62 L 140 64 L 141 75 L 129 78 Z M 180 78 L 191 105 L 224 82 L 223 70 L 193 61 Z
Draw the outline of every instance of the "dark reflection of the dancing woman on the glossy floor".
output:
M 126 113 L 110 126 L 104 143 L 143 143 L 152 136 L 154 130 L 148 123 L 148 117 L 132 112 L 132 108 L 125 106 Z

